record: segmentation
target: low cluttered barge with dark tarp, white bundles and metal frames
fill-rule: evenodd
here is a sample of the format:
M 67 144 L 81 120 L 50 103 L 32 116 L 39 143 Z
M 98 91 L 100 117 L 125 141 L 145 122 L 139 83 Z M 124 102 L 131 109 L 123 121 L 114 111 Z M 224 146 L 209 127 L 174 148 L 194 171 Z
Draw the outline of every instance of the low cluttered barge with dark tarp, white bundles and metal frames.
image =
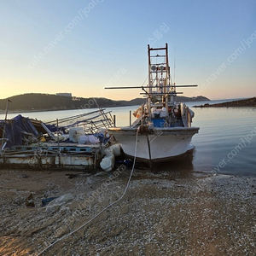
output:
M 6 112 L 0 120 L 0 166 L 112 170 L 114 156 L 105 158 L 104 151 L 111 145 L 104 134 L 109 126 L 113 117 L 104 108 L 46 123 L 20 114 L 7 119 Z

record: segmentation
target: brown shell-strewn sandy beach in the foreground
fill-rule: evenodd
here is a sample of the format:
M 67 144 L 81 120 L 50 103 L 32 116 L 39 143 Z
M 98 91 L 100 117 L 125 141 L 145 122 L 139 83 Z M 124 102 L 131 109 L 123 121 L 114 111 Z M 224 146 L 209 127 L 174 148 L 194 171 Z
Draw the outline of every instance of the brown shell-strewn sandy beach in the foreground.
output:
M 255 255 L 256 177 L 130 174 L 1 170 L 0 255 Z

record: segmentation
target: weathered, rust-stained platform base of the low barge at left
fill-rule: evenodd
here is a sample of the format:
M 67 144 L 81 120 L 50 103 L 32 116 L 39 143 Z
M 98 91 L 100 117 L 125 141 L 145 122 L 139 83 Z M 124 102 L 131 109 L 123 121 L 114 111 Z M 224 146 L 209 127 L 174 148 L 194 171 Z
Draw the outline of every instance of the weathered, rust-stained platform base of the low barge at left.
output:
M 40 143 L 40 145 L 13 146 L 0 156 L 5 167 L 33 169 L 95 169 L 102 160 L 100 144 Z

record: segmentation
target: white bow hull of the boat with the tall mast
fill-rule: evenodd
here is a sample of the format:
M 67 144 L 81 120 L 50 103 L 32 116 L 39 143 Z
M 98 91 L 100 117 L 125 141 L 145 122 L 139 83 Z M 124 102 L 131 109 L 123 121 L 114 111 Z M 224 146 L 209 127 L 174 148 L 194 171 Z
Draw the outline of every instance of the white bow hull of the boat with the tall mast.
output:
M 110 128 L 124 153 L 138 160 L 172 160 L 193 149 L 191 139 L 198 127 L 166 127 L 138 133 L 137 128 Z M 137 150 L 136 150 L 137 137 Z

